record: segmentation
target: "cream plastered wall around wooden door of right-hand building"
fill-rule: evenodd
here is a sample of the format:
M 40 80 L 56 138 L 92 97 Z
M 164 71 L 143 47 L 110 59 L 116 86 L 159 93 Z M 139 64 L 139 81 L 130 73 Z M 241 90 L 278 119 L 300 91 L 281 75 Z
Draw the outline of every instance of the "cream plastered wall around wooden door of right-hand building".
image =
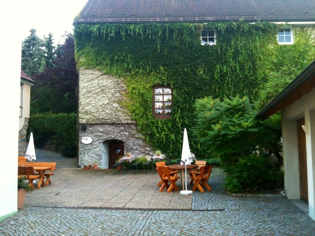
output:
M 296 120 L 305 118 L 309 134 L 306 135 L 306 160 L 309 215 L 315 220 L 315 89 L 286 106 L 282 112 L 284 154 L 284 188 L 288 199 L 300 199 L 299 164 Z

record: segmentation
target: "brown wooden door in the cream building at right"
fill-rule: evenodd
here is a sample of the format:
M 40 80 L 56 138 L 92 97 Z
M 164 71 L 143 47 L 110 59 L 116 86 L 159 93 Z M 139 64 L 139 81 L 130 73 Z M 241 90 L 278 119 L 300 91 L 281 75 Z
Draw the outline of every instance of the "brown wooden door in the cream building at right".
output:
M 299 153 L 299 172 L 300 172 L 300 195 L 301 200 L 308 203 L 308 188 L 307 188 L 307 165 L 306 165 L 306 138 L 302 125 L 305 125 L 305 120 L 300 119 L 297 123 L 297 144 Z

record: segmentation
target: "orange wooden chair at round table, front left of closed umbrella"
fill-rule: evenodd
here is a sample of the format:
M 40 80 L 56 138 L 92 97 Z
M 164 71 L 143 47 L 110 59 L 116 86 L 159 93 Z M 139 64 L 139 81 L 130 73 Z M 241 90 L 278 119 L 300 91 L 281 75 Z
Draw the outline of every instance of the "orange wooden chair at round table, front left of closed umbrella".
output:
M 179 176 L 177 176 L 178 171 L 169 171 L 168 166 L 157 166 L 157 171 L 160 175 L 161 181 L 163 182 L 160 192 L 162 192 L 165 187 L 167 188 L 168 193 L 170 193 L 173 188 L 175 191 L 178 190 L 176 186 L 176 181 L 179 179 Z

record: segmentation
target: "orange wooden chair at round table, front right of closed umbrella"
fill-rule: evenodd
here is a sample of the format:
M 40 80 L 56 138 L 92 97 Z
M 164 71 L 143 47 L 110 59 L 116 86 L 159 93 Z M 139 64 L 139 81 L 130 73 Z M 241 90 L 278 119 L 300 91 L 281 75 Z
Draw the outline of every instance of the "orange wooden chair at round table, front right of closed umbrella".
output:
M 196 188 L 200 190 L 200 192 L 204 193 L 203 187 L 206 187 L 208 191 L 211 191 L 211 187 L 209 186 L 208 179 L 211 174 L 211 165 L 200 167 L 200 171 L 190 171 L 193 182 L 195 182 L 194 186 L 192 186 L 192 191 L 196 191 Z

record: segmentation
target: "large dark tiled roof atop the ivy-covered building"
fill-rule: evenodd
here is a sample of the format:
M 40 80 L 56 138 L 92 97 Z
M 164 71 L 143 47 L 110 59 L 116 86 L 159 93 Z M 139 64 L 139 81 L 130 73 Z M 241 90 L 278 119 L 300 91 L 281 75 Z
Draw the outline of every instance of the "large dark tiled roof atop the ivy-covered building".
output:
M 315 0 L 89 0 L 74 24 L 315 21 Z

